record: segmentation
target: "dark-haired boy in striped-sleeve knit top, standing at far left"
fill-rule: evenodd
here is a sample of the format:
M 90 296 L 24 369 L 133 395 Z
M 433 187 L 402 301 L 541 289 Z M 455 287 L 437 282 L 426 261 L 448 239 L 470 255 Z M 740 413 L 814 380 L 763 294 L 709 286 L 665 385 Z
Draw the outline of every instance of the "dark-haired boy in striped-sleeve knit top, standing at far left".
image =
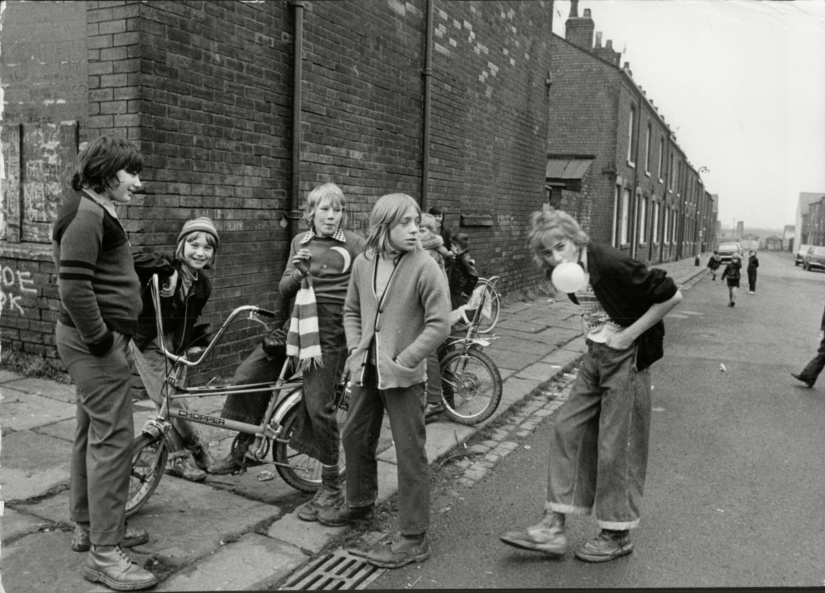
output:
M 103 135 L 78 154 L 74 193 L 52 232 L 60 306 L 54 340 L 77 387 L 69 490 L 72 549 L 88 550 L 83 576 L 118 591 L 158 581 L 121 546 L 148 534 L 125 524 L 134 421 L 127 347 L 138 329 L 140 282 L 115 204 L 141 187 L 143 157 L 127 140 Z

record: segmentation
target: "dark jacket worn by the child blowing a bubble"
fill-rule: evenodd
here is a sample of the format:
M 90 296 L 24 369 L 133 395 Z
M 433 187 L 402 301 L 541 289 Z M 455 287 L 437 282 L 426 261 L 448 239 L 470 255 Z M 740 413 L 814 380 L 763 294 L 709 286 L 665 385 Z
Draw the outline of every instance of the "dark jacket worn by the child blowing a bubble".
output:
M 648 268 L 618 249 L 587 244 L 590 285 L 610 319 L 622 327 L 633 325 L 656 303 L 670 300 L 678 291 L 676 282 L 660 268 Z M 574 295 L 568 295 L 577 303 Z M 658 320 L 636 339 L 636 368 L 641 371 L 664 356 L 665 324 Z

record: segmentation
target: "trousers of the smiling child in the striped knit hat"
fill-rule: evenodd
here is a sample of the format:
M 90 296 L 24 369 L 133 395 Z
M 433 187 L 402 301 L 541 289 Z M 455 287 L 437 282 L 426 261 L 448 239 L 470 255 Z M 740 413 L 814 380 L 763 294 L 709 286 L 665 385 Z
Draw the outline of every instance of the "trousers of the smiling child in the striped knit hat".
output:
M 167 348 L 171 344 L 171 339 L 167 335 Z M 140 380 L 144 383 L 144 388 L 158 410 L 163 406 L 166 400 L 166 377 L 169 371 L 172 370 L 172 363 L 166 358 L 166 355 L 160 349 L 160 342 L 158 338 L 152 340 L 143 352 L 140 352 L 134 341 L 129 342 L 129 352 L 134 360 L 134 367 L 138 369 Z M 174 392 L 170 392 L 174 395 Z M 169 402 L 170 415 L 171 410 L 188 410 L 189 405 L 186 400 L 170 400 Z M 200 447 L 200 433 L 191 422 L 187 422 L 181 418 L 172 418 L 172 432 L 169 434 L 171 442 L 170 459 L 178 457 L 188 457 L 186 449 L 190 451 Z

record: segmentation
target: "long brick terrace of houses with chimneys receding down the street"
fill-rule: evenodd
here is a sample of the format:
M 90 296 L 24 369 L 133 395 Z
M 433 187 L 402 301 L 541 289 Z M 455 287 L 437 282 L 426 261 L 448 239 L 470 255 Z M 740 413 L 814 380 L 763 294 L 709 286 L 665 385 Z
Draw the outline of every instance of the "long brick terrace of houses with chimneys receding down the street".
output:
M 565 36 L 551 38 L 550 202 L 640 261 L 700 254 L 714 236 L 713 199 L 629 64 L 594 31 L 590 10 L 579 17 L 572 2 Z

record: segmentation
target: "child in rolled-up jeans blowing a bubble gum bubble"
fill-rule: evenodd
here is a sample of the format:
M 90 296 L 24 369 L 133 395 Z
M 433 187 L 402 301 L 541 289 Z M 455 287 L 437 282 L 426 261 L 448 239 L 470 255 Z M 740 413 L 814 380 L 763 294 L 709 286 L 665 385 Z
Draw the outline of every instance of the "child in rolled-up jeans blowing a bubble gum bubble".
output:
M 594 512 L 600 534 L 576 556 L 606 562 L 633 550 L 648 463 L 650 365 L 662 358 L 662 318 L 681 301 L 667 273 L 592 243 L 563 211 L 535 212 L 528 244 L 536 263 L 577 263 L 587 282 L 568 297 L 581 307 L 587 353 L 550 444 L 547 500 L 538 524 L 502 534 L 515 548 L 561 556 L 565 515 Z

